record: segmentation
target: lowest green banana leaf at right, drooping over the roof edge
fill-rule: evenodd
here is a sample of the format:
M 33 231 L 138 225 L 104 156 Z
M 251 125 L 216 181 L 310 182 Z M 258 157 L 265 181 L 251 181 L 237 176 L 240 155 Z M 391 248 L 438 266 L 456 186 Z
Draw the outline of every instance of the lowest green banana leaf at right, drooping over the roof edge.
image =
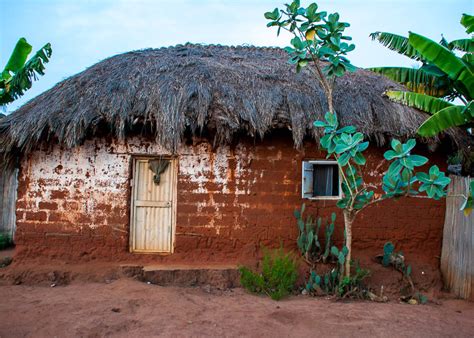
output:
M 465 106 L 451 106 L 441 109 L 427 119 L 418 129 L 421 136 L 435 136 L 436 134 L 454 126 L 462 126 L 472 121 L 466 112 Z

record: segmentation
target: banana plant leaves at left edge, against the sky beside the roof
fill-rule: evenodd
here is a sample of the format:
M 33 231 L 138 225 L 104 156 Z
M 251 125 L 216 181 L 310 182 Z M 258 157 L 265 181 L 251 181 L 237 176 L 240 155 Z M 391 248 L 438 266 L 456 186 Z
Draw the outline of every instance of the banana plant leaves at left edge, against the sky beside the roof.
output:
M 44 75 L 44 64 L 49 61 L 52 49 L 47 43 L 29 60 L 33 50 L 25 38 L 20 38 L 0 76 L 0 106 L 13 102 L 31 88 L 38 75 Z

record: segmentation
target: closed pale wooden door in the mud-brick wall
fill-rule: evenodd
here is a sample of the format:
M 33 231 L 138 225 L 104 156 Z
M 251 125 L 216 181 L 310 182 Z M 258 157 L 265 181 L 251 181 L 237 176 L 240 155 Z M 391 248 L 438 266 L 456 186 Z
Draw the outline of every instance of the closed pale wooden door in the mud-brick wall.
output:
M 156 158 L 136 158 L 133 163 L 130 251 L 173 252 L 176 218 L 176 163 L 169 161 L 159 175 L 150 165 Z

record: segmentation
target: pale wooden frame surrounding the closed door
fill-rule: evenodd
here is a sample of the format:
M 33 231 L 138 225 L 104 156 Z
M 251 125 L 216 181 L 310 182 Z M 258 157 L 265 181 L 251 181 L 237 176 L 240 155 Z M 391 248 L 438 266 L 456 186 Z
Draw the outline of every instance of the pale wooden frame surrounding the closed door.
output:
M 171 177 L 171 243 L 170 251 L 143 251 L 143 250 L 134 250 L 135 242 L 135 228 L 134 228 L 134 217 L 135 217 L 135 189 L 137 185 L 135 184 L 136 177 L 136 164 L 139 160 L 151 160 L 151 159 L 165 159 L 171 161 L 169 168 L 172 170 Z M 132 155 L 131 158 L 131 178 L 130 178 L 130 226 L 129 226 L 129 251 L 134 254 L 153 254 L 153 255 L 162 255 L 167 256 L 174 253 L 174 247 L 176 243 L 176 217 L 177 217 L 177 197 L 178 197 L 178 157 L 171 155 Z

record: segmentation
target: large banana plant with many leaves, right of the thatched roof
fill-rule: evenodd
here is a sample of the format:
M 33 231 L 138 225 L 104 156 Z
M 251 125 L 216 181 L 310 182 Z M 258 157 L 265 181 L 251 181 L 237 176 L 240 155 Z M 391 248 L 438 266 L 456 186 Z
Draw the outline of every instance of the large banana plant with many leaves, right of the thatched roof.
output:
M 473 32 L 473 17 L 464 14 L 461 24 Z M 474 38 L 439 43 L 410 32 L 408 38 L 386 32 L 370 35 L 387 48 L 421 62 L 421 67 L 377 67 L 370 70 L 404 84 L 411 92 L 388 91 L 394 101 L 421 109 L 432 116 L 418 129 L 421 136 L 435 136 L 454 126 L 474 122 Z M 456 52 L 462 56 L 456 55 Z M 459 99 L 463 104 L 452 103 Z

